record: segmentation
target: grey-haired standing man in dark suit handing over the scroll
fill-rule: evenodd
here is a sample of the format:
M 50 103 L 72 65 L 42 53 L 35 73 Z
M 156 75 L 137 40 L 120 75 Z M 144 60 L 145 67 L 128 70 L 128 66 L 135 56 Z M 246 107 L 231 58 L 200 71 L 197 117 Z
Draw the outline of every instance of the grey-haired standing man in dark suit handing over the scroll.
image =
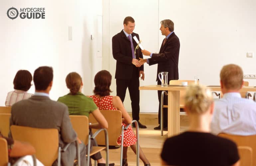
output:
M 168 84 L 170 80 L 179 79 L 178 63 L 180 52 L 180 40 L 175 35 L 174 23 L 171 20 L 163 20 L 160 22 L 160 30 L 162 35 L 166 36 L 163 40 L 159 53 L 151 53 L 147 50 L 142 50 L 144 55 L 150 56 L 149 59 L 140 59 L 139 63 L 142 65 L 147 62 L 149 65 L 157 64 L 157 85 L 161 85 L 161 81 L 158 78 L 158 73 L 168 72 Z M 158 109 L 158 126 L 154 129 L 161 129 L 161 93 L 158 91 L 159 109 Z M 164 96 L 164 104 L 167 105 L 167 96 Z M 163 113 L 163 126 L 164 130 L 168 130 L 168 112 L 164 110 Z

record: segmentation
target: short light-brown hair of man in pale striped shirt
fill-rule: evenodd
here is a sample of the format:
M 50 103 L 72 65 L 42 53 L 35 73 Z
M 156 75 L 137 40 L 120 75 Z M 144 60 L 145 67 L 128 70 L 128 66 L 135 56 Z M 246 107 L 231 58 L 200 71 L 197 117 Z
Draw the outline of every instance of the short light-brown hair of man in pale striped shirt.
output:
M 238 90 L 243 84 L 243 70 L 236 64 L 228 64 L 220 71 L 220 81 L 227 90 Z

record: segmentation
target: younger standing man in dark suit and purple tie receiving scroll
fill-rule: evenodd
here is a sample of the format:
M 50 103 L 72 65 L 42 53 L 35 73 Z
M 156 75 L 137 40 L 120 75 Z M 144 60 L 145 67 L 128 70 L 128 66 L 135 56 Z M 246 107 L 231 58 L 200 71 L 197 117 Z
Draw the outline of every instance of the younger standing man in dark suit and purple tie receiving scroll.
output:
M 143 55 L 140 48 L 135 50 L 137 43 L 133 37 L 136 36 L 138 40 L 140 38 L 138 34 L 133 33 L 135 21 L 132 17 L 126 17 L 123 24 L 124 29 L 112 38 L 112 52 L 116 59 L 116 95 L 124 102 L 128 88 L 132 102 L 132 118 L 138 121 L 140 128 L 147 128 L 139 122 L 139 77 L 142 75 L 141 79 L 144 80 L 144 66 L 139 63 L 138 59 L 143 58 Z

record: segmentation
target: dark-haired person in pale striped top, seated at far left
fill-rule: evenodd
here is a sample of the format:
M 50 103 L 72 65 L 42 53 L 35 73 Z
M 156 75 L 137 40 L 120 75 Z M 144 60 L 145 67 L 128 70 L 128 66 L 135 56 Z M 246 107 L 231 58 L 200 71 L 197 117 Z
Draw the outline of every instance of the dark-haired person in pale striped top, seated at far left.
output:
M 14 103 L 28 99 L 33 94 L 27 93 L 31 87 L 32 75 L 28 70 L 19 70 L 13 80 L 14 91 L 8 92 L 5 106 L 12 106 Z

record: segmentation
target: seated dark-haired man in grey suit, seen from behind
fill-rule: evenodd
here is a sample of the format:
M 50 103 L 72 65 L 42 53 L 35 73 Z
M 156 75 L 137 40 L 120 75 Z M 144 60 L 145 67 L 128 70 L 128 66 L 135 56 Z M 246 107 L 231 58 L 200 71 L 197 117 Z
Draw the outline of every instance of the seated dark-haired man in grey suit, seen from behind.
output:
M 73 165 L 76 158 L 74 141 L 77 139 L 77 135 L 68 117 L 67 106 L 49 98 L 49 92 L 53 85 L 52 67 L 42 66 L 36 69 L 33 80 L 36 88 L 35 95 L 12 106 L 10 125 L 57 128 L 59 130 L 59 146 L 63 148 L 66 144 L 71 143 L 61 154 L 61 165 Z M 83 143 L 79 145 L 81 165 L 85 166 L 86 147 Z

